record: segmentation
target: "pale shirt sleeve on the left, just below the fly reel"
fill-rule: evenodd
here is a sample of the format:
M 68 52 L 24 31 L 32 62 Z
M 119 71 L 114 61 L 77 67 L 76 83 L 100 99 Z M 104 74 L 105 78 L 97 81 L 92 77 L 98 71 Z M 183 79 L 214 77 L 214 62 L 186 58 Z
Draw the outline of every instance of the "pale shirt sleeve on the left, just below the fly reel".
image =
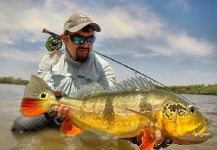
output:
M 52 77 L 52 65 L 57 62 L 57 54 L 47 54 L 45 55 L 38 68 L 38 76 L 43 78 L 45 82 L 54 89 L 54 80 Z

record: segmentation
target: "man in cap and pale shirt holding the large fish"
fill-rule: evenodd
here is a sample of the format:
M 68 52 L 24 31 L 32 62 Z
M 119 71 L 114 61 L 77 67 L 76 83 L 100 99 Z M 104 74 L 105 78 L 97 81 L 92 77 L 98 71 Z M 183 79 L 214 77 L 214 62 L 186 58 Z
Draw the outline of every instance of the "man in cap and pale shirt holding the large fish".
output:
M 57 98 L 62 94 L 71 96 L 94 82 L 104 88 L 112 86 L 115 82 L 111 66 L 92 53 L 95 32 L 100 31 L 99 25 L 83 14 L 73 14 L 64 23 L 64 31 L 61 34 L 65 44 L 64 52 L 44 56 L 38 71 L 38 75 L 54 90 Z M 39 117 L 20 116 L 15 119 L 12 131 L 38 131 L 59 127 L 67 117 L 68 111 L 67 106 L 60 105 Z M 135 138 L 130 140 L 138 144 Z

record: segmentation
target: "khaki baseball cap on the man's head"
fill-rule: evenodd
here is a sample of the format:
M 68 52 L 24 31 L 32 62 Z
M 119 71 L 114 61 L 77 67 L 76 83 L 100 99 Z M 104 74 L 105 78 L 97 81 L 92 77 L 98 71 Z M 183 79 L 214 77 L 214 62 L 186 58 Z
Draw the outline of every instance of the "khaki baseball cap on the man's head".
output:
M 100 32 L 101 28 L 97 23 L 94 23 L 88 16 L 80 13 L 71 15 L 64 23 L 64 31 L 77 32 L 83 27 L 90 25 L 94 31 Z

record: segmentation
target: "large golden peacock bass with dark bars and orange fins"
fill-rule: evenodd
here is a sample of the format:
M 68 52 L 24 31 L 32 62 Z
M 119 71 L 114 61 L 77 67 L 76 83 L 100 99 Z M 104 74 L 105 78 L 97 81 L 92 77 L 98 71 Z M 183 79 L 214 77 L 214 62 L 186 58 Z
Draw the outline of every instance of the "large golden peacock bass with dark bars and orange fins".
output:
M 160 141 L 154 137 L 157 130 L 161 131 L 161 140 L 171 138 L 180 145 L 202 143 L 212 136 L 206 133 L 207 118 L 196 106 L 180 95 L 155 88 L 142 77 L 109 89 L 93 84 L 71 98 L 57 101 L 46 82 L 32 75 L 25 87 L 21 113 L 34 117 L 60 104 L 69 107 L 69 117 L 61 125 L 61 131 L 67 135 L 93 130 L 129 138 L 145 129 L 140 150 L 151 150 Z

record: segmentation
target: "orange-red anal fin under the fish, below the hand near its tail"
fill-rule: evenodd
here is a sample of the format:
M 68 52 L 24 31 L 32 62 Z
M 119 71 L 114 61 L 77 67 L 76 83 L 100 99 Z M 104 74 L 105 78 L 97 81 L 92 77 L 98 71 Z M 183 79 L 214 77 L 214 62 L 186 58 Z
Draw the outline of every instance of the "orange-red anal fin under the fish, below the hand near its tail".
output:
M 76 125 L 73 124 L 70 117 L 64 120 L 64 122 L 60 127 L 60 131 L 62 131 L 64 134 L 67 134 L 69 136 L 74 136 L 82 132 L 80 128 L 78 128 Z

